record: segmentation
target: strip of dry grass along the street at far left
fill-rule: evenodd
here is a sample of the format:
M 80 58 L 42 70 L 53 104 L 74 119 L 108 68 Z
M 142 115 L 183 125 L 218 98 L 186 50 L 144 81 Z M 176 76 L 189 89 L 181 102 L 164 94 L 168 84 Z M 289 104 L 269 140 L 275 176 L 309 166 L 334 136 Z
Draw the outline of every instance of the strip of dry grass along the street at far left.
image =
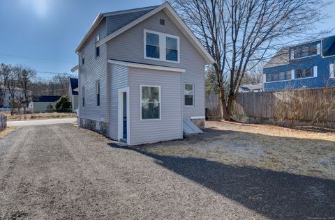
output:
M 21 115 L 13 115 L 10 116 L 9 111 L 3 111 L 1 114 L 7 116 L 7 120 L 36 120 L 36 119 L 47 119 L 47 118 L 73 118 L 76 117 L 76 113 L 29 113 L 29 114 L 21 114 Z

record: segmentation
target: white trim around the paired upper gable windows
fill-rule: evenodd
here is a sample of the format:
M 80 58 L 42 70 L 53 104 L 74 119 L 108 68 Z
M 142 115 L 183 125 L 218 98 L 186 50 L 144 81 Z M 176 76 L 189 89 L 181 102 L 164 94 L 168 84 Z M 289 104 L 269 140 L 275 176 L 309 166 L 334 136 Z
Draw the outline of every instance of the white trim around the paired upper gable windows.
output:
M 159 36 L 159 58 L 153 58 L 147 56 L 147 33 L 154 33 Z M 177 57 L 178 61 L 169 61 L 166 59 L 166 37 L 169 38 L 176 38 L 177 39 Z M 144 29 L 143 31 L 143 57 L 149 60 L 154 61 L 164 61 L 164 62 L 170 62 L 170 63 L 180 63 L 180 38 L 179 36 L 174 36 L 168 33 L 161 33 L 157 31 L 151 31 Z

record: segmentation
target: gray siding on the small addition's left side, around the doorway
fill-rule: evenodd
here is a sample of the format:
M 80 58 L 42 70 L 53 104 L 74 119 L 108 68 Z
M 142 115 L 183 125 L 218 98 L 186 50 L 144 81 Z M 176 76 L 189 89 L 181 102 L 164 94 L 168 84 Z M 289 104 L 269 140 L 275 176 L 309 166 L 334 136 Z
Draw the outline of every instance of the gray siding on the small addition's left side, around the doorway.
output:
M 117 139 L 118 90 L 128 87 L 128 67 L 108 64 L 110 70 L 110 138 Z

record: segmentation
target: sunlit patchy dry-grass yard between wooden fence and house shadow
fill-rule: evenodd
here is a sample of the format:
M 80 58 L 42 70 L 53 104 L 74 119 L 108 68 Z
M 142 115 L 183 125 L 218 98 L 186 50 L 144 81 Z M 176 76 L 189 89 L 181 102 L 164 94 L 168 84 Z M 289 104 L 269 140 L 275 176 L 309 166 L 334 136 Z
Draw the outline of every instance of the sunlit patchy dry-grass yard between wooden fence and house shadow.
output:
M 232 166 L 250 166 L 335 180 L 335 133 L 272 125 L 207 122 L 204 134 L 186 140 L 141 146 L 158 155 L 200 157 Z

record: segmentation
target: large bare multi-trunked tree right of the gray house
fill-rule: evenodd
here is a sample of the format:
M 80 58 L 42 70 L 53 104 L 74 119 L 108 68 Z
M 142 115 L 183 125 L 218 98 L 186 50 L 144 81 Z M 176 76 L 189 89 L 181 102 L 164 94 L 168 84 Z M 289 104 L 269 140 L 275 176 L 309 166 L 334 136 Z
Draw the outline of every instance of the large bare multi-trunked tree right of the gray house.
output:
M 288 43 L 306 40 L 306 33 L 326 17 L 322 8 L 330 3 L 326 0 L 170 2 L 216 61 L 214 70 L 225 120 L 231 119 L 232 101 L 241 79 L 253 68 L 250 62 L 257 65 Z

